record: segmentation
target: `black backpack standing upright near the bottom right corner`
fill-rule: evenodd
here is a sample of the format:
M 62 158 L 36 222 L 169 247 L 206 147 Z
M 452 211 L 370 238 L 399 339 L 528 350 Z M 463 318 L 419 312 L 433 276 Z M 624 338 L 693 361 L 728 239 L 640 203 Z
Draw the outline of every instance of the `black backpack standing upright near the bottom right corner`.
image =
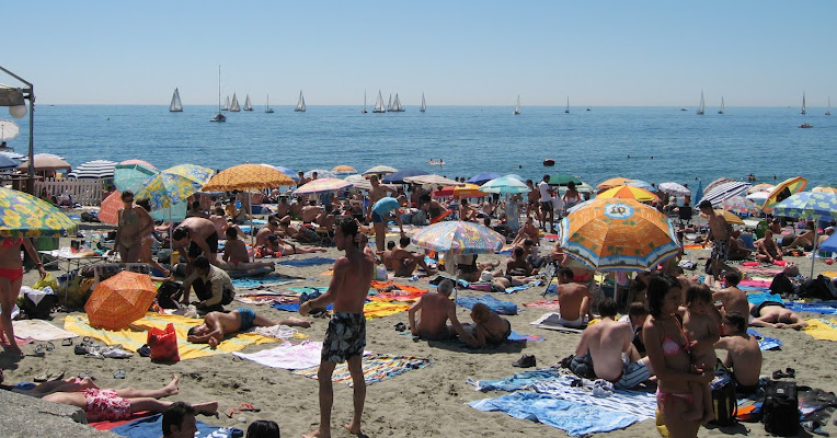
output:
M 800 427 L 796 382 L 768 381 L 761 407 L 765 431 L 780 437 L 794 436 Z

